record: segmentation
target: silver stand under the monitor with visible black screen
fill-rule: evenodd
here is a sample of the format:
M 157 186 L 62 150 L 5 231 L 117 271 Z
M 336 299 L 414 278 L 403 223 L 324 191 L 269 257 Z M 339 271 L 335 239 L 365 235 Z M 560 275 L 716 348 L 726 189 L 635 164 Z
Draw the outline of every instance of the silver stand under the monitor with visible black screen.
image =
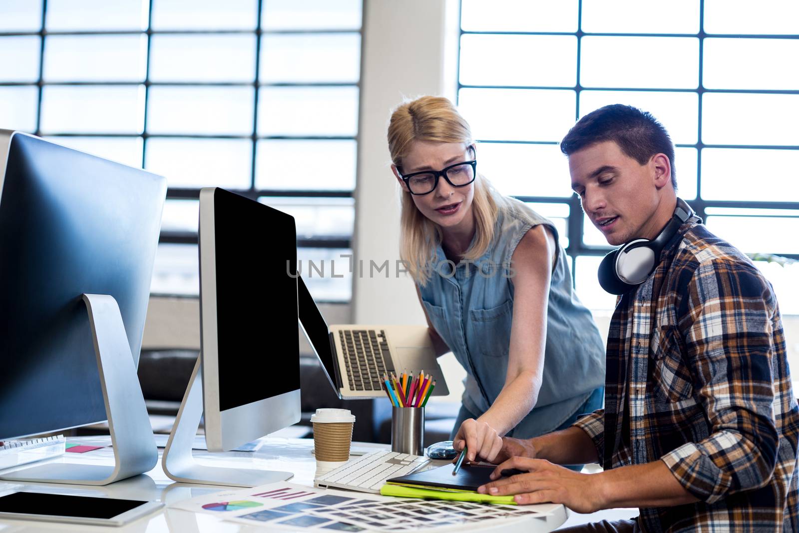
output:
M 189 386 L 177 419 L 164 448 L 161 466 L 169 479 L 181 483 L 228 485 L 230 487 L 257 487 L 277 481 L 291 479 L 294 474 L 284 471 L 259 470 L 256 468 L 210 467 L 197 463 L 192 455 L 194 436 L 200 427 L 203 413 L 201 358 L 189 378 Z

